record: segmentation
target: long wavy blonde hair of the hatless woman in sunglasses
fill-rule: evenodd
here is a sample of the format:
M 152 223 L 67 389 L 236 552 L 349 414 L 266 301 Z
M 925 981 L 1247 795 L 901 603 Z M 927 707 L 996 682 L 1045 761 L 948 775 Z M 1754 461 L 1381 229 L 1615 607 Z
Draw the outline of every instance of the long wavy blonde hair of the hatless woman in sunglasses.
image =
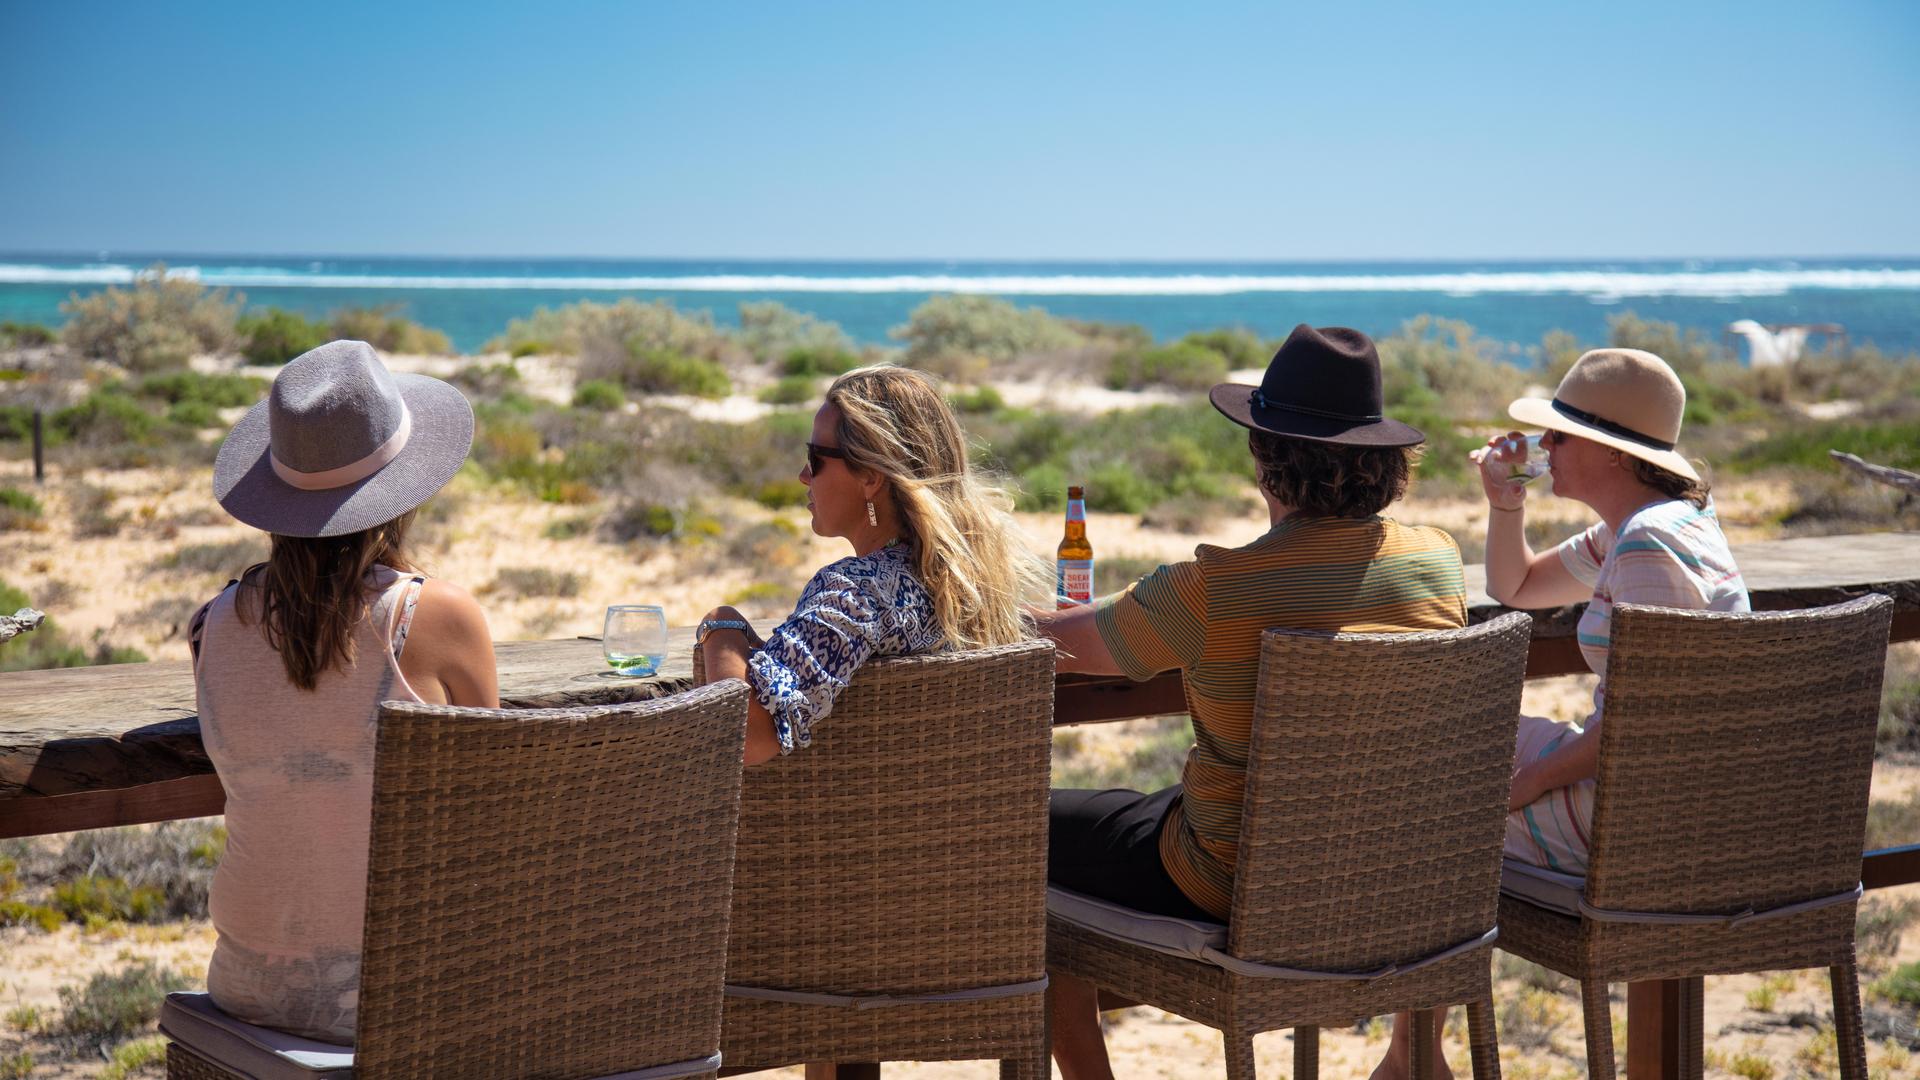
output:
M 847 463 L 885 477 L 914 544 L 920 584 L 956 650 L 1033 634 L 1025 603 L 1052 592 L 1046 561 L 1020 542 L 1012 498 L 968 467 L 966 432 L 933 380 L 910 367 L 858 367 L 828 386 Z

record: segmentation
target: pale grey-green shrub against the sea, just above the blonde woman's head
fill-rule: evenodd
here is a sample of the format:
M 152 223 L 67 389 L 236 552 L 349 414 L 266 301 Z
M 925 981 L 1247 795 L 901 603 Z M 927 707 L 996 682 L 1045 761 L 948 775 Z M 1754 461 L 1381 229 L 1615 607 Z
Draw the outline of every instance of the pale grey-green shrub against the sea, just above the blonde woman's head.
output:
M 902 363 L 962 382 L 1014 357 L 1087 340 L 1041 307 L 1016 307 L 993 296 L 927 298 L 891 334 L 906 342 Z

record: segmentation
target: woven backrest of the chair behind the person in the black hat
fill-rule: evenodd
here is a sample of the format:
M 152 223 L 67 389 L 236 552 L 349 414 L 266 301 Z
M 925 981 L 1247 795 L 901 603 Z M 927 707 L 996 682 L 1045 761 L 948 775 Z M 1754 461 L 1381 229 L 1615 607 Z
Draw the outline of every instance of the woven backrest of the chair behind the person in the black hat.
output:
M 1261 636 L 1233 955 L 1359 972 L 1494 926 L 1530 636 Z

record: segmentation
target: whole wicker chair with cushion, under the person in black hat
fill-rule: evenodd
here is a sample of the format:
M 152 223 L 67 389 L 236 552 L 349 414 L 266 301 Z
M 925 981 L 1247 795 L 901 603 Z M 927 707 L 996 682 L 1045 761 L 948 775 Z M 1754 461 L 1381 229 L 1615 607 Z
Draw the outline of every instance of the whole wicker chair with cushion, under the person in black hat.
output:
M 1252 1080 L 1258 1032 L 1294 1028 L 1311 1080 L 1319 1026 L 1465 1003 L 1473 1072 L 1498 1080 L 1490 961 L 1530 626 L 1267 630 L 1229 924 L 1054 890 L 1048 967 L 1219 1028 L 1233 1080 Z M 1428 1057 L 1417 1017 L 1415 1076 Z

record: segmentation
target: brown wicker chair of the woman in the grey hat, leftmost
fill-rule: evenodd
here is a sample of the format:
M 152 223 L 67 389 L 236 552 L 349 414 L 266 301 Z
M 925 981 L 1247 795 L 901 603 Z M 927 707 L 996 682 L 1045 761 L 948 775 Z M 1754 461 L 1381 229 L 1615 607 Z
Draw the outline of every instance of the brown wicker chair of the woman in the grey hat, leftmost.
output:
M 355 1045 L 173 995 L 167 1074 L 714 1076 L 745 721 L 386 701 Z

